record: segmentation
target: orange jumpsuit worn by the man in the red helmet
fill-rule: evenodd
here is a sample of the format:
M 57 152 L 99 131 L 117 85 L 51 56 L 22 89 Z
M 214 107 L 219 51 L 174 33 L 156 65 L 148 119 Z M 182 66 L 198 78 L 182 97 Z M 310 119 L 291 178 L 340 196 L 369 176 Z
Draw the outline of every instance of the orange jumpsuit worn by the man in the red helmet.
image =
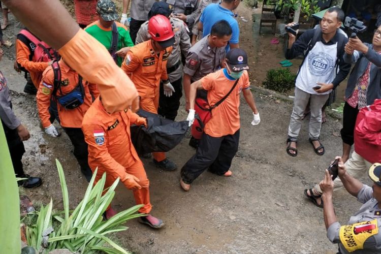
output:
M 148 112 L 157 114 L 160 80 L 168 80 L 167 60 L 172 47 L 155 54 L 151 40 L 135 45 L 126 54 L 122 70 L 134 82 L 140 96 L 140 107 Z M 157 162 L 165 160 L 164 152 L 154 152 Z

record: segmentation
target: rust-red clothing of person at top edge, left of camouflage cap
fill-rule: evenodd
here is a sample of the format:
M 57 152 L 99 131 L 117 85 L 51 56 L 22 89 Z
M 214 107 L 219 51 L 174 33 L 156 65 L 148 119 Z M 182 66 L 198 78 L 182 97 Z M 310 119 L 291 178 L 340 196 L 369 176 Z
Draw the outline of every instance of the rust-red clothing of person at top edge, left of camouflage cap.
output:
M 78 24 L 88 25 L 99 19 L 97 0 L 74 0 L 75 17 Z

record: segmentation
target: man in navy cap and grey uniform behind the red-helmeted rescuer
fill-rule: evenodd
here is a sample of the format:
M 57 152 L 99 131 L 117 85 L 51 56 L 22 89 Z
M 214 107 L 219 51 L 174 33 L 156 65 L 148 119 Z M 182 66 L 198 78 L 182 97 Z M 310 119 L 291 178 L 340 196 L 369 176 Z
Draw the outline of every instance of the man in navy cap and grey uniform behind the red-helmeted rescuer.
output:
M 186 55 L 190 48 L 190 39 L 187 34 L 185 24 L 177 18 L 170 18 L 171 10 L 169 5 L 165 2 L 156 2 L 153 4 L 148 13 L 148 19 L 157 14 L 161 14 L 169 18 L 173 32 L 175 34 L 175 44 L 173 45 L 172 52 L 167 61 L 167 74 L 174 92 L 170 91 L 164 93 L 163 83 L 160 84 L 160 97 L 158 113 L 165 118 L 175 120 L 177 110 L 180 106 L 180 98 L 182 96 L 182 64 L 181 54 Z M 140 27 L 136 37 L 136 44 L 148 41 L 151 36 L 148 33 L 148 21 Z

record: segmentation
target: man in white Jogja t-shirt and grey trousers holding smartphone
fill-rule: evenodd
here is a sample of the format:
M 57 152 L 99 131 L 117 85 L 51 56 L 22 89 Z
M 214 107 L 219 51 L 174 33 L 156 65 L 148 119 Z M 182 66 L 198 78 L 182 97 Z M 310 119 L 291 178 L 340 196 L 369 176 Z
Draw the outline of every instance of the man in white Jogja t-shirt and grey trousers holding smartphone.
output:
M 293 59 L 298 55 L 304 55 L 295 82 L 294 108 L 287 139 L 286 151 L 291 156 L 298 154 L 298 136 L 308 101 L 311 110 L 309 142 L 316 154 L 323 155 L 325 152 L 324 146 L 319 141 L 322 107 L 329 93 L 345 79 L 351 68 L 351 65 L 345 63 L 342 58 L 348 40 L 344 35 L 337 33 L 343 19 L 344 12 L 340 8 L 333 7 L 324 14 L 320 27 L 305 31 L 298 40 L 294 34 L 288 33 L 289 43 L 285 58 Z M 290 23 L 287 26 L 294 25 Z

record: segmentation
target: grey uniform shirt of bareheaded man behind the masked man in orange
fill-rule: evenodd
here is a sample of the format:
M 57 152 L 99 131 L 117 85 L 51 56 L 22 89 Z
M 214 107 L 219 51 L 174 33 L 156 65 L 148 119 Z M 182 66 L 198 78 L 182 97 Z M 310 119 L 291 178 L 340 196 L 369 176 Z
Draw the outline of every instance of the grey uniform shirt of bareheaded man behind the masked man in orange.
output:
M 220 69 L 221 62 L 225 60 L 225 47 L 212 48 L 208 38 L 206 36 L 193 45 L 186 56 L 184 73 L 191 76 L 192 82 L 216 72 Z

